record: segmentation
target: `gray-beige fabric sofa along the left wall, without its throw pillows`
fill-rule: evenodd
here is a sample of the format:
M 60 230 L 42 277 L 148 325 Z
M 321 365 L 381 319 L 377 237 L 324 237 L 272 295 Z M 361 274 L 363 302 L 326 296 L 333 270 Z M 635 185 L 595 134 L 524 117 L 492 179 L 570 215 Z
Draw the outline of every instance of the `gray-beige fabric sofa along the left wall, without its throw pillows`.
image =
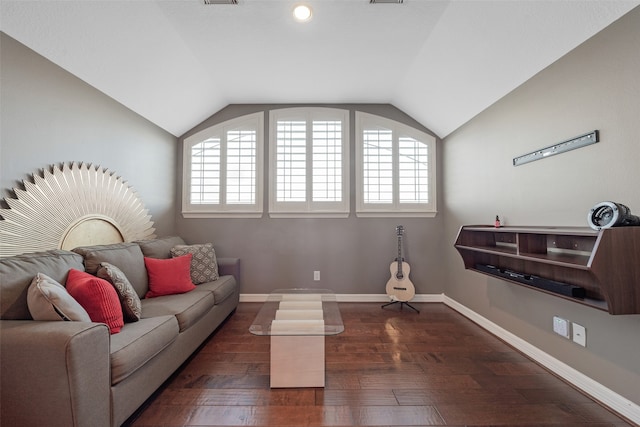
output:
M 235 310 L 239 259 L 183 294 L 144 298 L 144 257 L 169 258 L 179 237 L 51 250 L 0 259 L 0 425 L 119 426 Z M 141 298 L 142 316 L 110 335 L 104 323 L 35 321 L 27 290 L 37 273 L 117 266 Z

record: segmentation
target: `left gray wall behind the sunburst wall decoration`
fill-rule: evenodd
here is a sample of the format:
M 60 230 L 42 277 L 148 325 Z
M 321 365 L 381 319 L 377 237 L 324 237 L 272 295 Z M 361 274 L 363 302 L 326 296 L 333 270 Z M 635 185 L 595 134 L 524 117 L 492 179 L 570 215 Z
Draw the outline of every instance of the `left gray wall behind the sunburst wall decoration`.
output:
M 0 33 L 0 187 L 53 164 L 100 165 L 126 180 L 155 222 L 174 232 L 177 139 Z

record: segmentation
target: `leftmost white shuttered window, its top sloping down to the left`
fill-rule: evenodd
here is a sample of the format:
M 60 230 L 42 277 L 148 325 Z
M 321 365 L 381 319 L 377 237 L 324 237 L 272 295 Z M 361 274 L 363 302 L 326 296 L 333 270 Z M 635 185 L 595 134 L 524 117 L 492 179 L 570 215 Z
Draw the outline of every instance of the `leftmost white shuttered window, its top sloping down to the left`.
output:
M 263 117 L 239 117 L 184 140 L 183 216 L 262 215 Z

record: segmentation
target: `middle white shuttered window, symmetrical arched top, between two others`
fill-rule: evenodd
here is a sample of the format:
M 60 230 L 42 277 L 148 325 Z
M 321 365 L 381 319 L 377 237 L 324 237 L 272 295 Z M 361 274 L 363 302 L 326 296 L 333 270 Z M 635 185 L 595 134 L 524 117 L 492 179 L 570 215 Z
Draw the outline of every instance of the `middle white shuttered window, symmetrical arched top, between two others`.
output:
M 346 216 L 348 112 L 290 108 L 271 113 L 272 216 Z

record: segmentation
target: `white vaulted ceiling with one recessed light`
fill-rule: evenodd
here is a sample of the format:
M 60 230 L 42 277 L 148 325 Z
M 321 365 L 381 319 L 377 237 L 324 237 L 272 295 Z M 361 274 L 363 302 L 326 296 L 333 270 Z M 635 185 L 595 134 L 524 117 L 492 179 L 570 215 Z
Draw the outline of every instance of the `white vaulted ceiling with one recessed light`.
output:
M 391 103 L 445 137 L 640 0 L 0 0 L 0 30 L 175 136 L 228 104 Z

